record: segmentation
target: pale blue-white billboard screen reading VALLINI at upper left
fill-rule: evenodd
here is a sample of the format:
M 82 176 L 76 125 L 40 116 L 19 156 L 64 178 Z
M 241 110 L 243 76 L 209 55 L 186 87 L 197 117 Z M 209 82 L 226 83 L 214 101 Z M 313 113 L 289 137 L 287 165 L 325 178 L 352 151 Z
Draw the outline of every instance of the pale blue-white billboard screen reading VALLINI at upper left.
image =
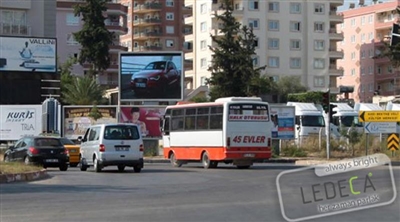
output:
M 57 67 L 53 38 L 0 36 L 0 72 L 52 72 Z

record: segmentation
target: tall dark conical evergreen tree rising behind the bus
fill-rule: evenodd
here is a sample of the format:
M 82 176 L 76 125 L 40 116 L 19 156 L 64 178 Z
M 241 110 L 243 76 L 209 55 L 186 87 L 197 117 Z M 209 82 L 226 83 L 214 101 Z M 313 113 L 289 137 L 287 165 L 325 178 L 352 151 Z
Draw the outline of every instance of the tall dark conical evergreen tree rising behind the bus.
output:
M 210 85 L 211 100 L 228 96 L 259 95 L 265 80 L 260 77 L 264 67 L 254 66 L 256 36 L 253 29 L 241 26 L 232 15 L 233 2 L 224 0 L 225 12 L 215 15 L 222 22 L 222 36 L 211 35 L 215 45 L 209 46 L 213 52 L 211 78 L 207 79 Z

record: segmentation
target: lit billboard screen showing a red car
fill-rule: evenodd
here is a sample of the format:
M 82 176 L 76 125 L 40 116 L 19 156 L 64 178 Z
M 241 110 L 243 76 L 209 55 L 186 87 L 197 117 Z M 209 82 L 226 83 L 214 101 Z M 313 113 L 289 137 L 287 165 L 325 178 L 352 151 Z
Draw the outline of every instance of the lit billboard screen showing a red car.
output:
M 182 100 L 183 53 L 121 53 L 120 100 Z

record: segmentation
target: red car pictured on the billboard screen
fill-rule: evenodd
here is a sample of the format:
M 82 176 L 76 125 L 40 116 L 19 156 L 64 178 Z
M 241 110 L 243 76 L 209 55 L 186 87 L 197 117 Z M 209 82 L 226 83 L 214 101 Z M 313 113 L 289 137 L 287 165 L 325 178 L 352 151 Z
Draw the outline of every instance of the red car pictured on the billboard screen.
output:
M 180 90 L 181 71 L 172 61 L 155 61 L 131 77 L 135 95 L 158 93 L 165 95 L 168 90 Z

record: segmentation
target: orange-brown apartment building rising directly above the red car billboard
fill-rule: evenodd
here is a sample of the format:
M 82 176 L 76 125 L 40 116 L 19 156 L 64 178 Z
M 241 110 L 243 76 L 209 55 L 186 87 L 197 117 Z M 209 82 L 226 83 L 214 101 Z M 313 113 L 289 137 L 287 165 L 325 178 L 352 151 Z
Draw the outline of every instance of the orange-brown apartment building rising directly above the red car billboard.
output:
M 181 51 L 183 14 L 190 9 L 180 0 L 121 0 L 128 6 L 128 33 L 121 43 L 129 51 Z

